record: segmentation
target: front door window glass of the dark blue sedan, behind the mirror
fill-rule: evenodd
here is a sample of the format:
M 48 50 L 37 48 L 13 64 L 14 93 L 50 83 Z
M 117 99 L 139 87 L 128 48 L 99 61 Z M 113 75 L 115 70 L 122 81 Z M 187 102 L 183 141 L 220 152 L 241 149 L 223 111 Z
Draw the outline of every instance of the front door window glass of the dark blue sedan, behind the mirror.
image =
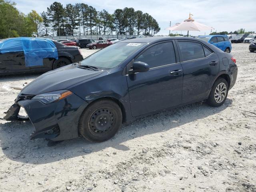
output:
M 150 68 L 176 63 L 172 42 L 154 45 L 140 54 L 135 61 L 145 62 Z

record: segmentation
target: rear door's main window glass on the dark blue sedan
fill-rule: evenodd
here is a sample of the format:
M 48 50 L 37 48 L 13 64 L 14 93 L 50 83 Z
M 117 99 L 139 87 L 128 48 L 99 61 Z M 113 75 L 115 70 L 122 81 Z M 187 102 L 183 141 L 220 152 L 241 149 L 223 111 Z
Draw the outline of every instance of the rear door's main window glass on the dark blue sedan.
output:
M 183 61 L 204 58 L 202 44 L 191 41 L 178 41 Z

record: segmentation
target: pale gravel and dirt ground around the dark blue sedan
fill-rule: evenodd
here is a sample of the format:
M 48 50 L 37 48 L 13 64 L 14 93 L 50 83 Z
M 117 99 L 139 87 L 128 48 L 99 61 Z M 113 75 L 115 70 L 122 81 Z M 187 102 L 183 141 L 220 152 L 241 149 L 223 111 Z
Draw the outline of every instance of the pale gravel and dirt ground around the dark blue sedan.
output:
M 103 143 L 53 146 L 29 140 L 30 122 L 0 120 L 0 191 L 255 192 L 256 52 L 232 46 L 238 78 L 219 108 L 196 103 L 124 124 Z M 37 76 L 1 77 L 0 86 Z M 0 92 L 0 118 L 18 92 Z

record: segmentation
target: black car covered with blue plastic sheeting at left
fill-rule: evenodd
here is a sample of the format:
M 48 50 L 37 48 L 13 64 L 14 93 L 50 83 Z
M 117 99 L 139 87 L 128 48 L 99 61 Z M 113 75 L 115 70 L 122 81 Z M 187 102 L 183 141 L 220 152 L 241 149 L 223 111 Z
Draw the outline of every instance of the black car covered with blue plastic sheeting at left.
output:
M 46 38 L 9 38 L 0 42 L 0 75 L 46 72 L 83 59 L 78 47 Z

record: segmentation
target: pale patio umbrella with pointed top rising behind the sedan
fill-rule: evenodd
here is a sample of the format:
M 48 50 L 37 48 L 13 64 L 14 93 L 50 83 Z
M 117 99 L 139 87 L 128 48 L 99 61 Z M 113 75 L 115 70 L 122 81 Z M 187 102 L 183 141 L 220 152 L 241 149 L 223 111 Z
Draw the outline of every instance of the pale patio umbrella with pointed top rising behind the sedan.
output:
M 194 19 L 191 17 L 192 14 L 189 14 L 189 18 L 184 20 L 181 24 L 171 26 L 166 28 L 166 30 L 172 30 L 172 31 L 203 31 L 203 30 L 212 30 L 214 28 L 209 27 L 207 25 L 201 24 L 199 22 L 196 22 Z

